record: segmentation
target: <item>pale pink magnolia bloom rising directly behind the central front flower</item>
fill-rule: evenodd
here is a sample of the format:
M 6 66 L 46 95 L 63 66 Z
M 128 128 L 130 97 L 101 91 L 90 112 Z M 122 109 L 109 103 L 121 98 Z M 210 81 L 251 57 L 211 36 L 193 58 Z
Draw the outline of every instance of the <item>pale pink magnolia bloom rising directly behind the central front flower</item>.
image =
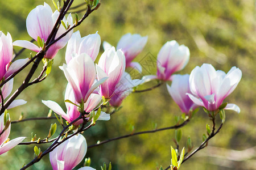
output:
M 71 39 L 68 41 L 66 50 L 65 59 L 67 64 L 71 60 L 73 56 L 72 53 L 74 52 L 77 54 L 86 53 L 92 58 L 93 61 L 95 61 L 100 50 L 100 45 L 101 37 L 97 32 L 82 38 L 79 31 L 73 33 Z

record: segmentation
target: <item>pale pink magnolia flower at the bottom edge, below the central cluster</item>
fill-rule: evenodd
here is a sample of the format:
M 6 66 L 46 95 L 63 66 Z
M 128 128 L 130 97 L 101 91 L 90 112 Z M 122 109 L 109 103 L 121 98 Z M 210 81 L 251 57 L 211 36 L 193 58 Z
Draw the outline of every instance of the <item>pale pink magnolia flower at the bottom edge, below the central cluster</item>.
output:
M 49 153 L 53 170 L 69 170 L 76 167 L 84 158 L 87 151 L 83 135 L 75 135 L 64 141 Z

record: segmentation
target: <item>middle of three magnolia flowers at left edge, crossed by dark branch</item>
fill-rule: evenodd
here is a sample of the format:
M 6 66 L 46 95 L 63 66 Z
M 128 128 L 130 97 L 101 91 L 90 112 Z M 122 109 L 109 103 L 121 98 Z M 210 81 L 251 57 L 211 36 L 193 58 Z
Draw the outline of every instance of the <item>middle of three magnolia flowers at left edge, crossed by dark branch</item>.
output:
M 11 91 L 13 91 L 13 79 L 10 79 L 9 82 L 5 83 L 1 88 L 1 91 L 3 95 L 3 99 L 6 99 L 6 97 L 8 97 L 11 94 Z M 26 103 L 27 101 L 22 99 L 14 100 L 7 109 L 11 109 Z M 0 100 L 0 109 L 1 109 L 1 100 Z

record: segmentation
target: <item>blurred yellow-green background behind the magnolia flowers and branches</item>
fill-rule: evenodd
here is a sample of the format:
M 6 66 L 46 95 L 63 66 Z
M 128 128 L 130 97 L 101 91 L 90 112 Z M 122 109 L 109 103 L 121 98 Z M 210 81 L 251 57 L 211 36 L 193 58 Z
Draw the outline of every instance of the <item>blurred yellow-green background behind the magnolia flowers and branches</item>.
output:
M 46 1 L 54 9 L 52 1 Z M 78 5 L 84 1 L 75 1 Z M 26 31 L 26 17 L 43 1 L 1 1 L 0 30 L 10 32 L 13 40 L 31 40 Z M 85 6 L 77 8 L 81 10 Z M 75 11 L 75 10 L 71 10 Z M 79 13 L 80 17 L 82 13 Z M 216 70 L 226 73 L 232 66 L 242 70 L 243 76 L 236 90 L 225 101 L 235 103 L 241 113 L 226 112 L 226 122 L 221 132 L 201 150 L 181 166 L 182 169 L 256 169 L 256 67 L 255 67 L 255 1 L 253 0 L 179 0 L 179 1 L 101 1 L 100 8 L 93 12 L 78 28 L 82 36 L 98 33 L 101 40 L 116 46 L 125 33 L 139 33 L 148 36 L 148 42 L 135 61 L 141 62 L 148 56 L 156 58 L 166 41 L 176 40 L 188 46 L 191 59 L 180 74 L 189 74 L 195 66 L 212 64 Z M 77 29 L 76 29 L 77 30 Z M 15 50 L 19 50 L 16 48 Z M 103 52 L 102 46 L 100 54 Z M 26 58 L 26 50 L 19 58 Z M 34 53 L 33 53 L 34 54 Z M 99 56 L 100 56 L 99 54 Z M 41 100 L 53 100 L 63 107 L 64 90 L 67 80 L 58 66 L 65 62 L 65 49 L 54 58 L 52 73 L 46 80 L 27 88 L 18 99 L 28 101 L 26 105 L 11 109 L 11 120 L 20 113 L 24 117 L 47 116 L 48 108 Z M 36 75 L 40 73 L 40 68 Z M 14 80 L 14 89 L 19 87 L 26 69 Z M 143 75 L 155 74 L 155 67 L 147 67 Z M 145 84 L 139 89 L 154 86 L 156 82 Z M 113 114 L 108 122 L 98 121 L 96 126 L 84 133 L 88 145 L 98 140 L 117 137 L 135 131 L 152 130 L 152 122 L 158 128 L 175 124 L 174 116 L 181 112 L 172 101 L 163 85 L 150 92 L 131 94 L 122 104 L 123 108 Z M 45 138 L 48 128 L 55 120 L 27 121 L 13 124 L 9 138 L 26 136 L 30 141 L 31 129 L 38 137 Z M 220 121 L 218 120 L 218 123 Z M 207 114 L 200 110 L 182 128 L 180 147 L 185 146 L 188 135 L 194 148 L 200 145 L 205 124 L 210 124 Z M 58 130 L 61 128 L 58 125 Z M 104 162 L 112 162 L 113 169 L 157 169 L 166 168 L 171 163 L 170 145 L 174 146 L 174 130 L 160 131 L 121 139 L 105 145 L 90 148 L 86 158 L 92 159 L 92 167 L 100 169 Z M 45 150 L 49 145 L 38 145 Z M 17 146 L 0 156 L 0 169 L 19 169 L 34 156 L 34 145 Z M 82 164 L 82 163 L 81 163 Z M 81 167 L 81 164 L 77 167 Z M 29 169 L 51 169 L 48 156 Z

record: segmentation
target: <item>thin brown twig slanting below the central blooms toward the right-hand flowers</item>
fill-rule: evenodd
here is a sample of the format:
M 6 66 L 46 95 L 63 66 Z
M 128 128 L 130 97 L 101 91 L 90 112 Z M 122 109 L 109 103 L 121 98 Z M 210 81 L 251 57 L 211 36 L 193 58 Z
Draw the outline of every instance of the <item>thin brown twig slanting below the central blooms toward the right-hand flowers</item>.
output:
M 101 141 L 100 143 L 96 143 L 94 145 L 90 145 L 87 148 L 92 148 L 92 147 L 100 146 L 100 145 L 103 145 L 103 144 L 108 143 L 108 142 L 116 141 L 116 140 L 122 139 L 122 138 L 132 137 L 132 136 L 135 136 L 135 135 L 141 135 L 141 134 L 146 134 L 146 133 L 155 133 L 157 131 L 169 130 L 169 129 L 178 129 L 178 128 L 181 128 L 181 127 L 187 125 L 188 122 L 189 122 L 189 119 L 184 121 L 180 125 L 169 126 L 169 127 L 166 127 L 166 128 L 160 128 L 160 129 L 155 129 L 155 130 L 139 131 L 137 133 L 131 133 L 131 134 L 123 135 L 121 137 L 115 137 L 115 138 L 112 138 L 112 139 L 107 139 L 105 141 Z

